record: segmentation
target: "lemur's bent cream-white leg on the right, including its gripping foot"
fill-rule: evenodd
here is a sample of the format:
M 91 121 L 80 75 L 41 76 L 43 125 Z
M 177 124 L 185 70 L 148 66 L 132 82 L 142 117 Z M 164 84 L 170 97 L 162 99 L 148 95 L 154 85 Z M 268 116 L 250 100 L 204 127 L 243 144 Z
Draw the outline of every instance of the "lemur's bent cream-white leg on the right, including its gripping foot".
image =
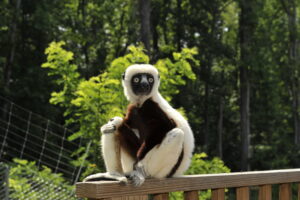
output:
M 178 162 L 183 150 L 184 133 L 179 128 L 169 131 L 160 145 L 156 145 L 137 163 L 130 175 L 133 184 L 141 185 L 145 177 L 164 178 Z

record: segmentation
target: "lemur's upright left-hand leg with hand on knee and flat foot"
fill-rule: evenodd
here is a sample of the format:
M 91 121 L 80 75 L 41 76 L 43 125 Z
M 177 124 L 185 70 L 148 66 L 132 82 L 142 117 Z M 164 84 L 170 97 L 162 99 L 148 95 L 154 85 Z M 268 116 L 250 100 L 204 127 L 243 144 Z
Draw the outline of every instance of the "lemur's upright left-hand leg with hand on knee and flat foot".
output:
M 107 173 L 90 175 L 86 177 L 84 181 L 119 180 L 127 182 L 126 177 L 122 175 L 123 170 L 120 157 L 120 144 L 119 140 L 116 138 L 117 127 L 122 121 L 122 118 L 114 117 L 101 127 L 101 147 Z

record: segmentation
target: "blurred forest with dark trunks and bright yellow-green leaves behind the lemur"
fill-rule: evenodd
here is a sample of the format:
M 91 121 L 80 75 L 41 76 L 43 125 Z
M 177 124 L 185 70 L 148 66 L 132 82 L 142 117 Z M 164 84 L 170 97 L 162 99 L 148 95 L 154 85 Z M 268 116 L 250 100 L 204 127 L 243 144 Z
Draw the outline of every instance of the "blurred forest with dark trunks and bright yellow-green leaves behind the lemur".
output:
M 1 96 L 93 141 L 86 166 L 103 169 L 99 127 L 127 104 L 120 74 L 149 62 L 195 152 L 231 171 L 300 167 L 299 3 L 2 0 Z

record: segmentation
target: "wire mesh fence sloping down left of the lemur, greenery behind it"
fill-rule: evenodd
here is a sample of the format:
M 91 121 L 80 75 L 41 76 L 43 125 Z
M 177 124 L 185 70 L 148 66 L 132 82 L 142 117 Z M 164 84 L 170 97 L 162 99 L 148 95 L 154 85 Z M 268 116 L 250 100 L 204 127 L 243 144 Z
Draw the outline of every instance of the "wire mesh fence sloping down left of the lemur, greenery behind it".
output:
M 81 164 L 72 163 L 81 156 L 74 154 L 74 151 L 83 147 L 80 138 L 75 141 L 67 139 L 72 134 L 66 127 L 0 95 L 0 162 L 6 164 L 0 165 L 0 199 L 75 198 L 74 190 L 65 185 L 72 186 L 77 182 L 84 160 Z M 84 149 L 86 150 L 83 153 L 87 153 L 89 148 Z M 19 160 L 17 163 L 13 162 L 16 158 Z M 24 164 L 26 170 L 18 170 L 22 160 L 28 162 Z M 31 169 L 25 166 L 29 164 L 32 165 Z M 15 177 L 22 183 L 22 187 L 10 183 L 9 190 L 7 189 L 8 183 L 5 182 L 8 180 L 8 171 L 5 171 L 8 170 L 7 166 L 14 169 L 9 173 L 10 178 Z M 59 177 L 50 177 L 52 174 Z M 66 182 L 60 184 L 58 181 L 55 182 L 56 179 Z

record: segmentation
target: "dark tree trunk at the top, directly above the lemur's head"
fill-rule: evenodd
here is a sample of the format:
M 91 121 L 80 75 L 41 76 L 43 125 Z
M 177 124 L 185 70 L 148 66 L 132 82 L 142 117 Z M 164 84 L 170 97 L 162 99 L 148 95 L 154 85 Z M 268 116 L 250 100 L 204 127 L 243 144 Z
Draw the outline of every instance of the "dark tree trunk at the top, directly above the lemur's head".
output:
M 151 29 L 150 29 L 150 0 L 139 0 L 139 9 L 141 17 L 141 41 L 147 50 L 148 55 L 150 54 L 150 38 L 151 38 Z

